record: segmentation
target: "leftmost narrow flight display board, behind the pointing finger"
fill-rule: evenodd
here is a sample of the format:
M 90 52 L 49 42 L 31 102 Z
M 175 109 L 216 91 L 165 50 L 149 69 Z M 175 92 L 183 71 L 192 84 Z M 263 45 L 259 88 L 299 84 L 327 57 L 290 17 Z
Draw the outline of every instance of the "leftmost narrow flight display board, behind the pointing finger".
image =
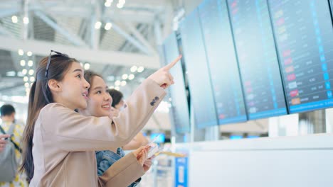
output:
M 179 56 L 179 47 L 177 44 L 176 33 L 171 33 L 163 44 L 165 62 L 172 62 Z M 169 87 L 171 96 L 171 115 L 174 128 L 177 133 L 190 132 L 189 106 L 184 83 L 183 68 L 181 62 L 178 62 L 170 69 L 176 84 Z

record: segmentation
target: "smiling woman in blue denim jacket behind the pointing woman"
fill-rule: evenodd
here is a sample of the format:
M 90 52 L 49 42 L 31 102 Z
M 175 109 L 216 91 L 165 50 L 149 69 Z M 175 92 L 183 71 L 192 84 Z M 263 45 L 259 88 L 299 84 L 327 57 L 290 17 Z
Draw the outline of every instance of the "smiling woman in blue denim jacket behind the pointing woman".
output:
M 109 116 L 111 112 L 113 116 L 117 116 L 119 113 L 119 110 L 117 108 L 120 106 L 118 105 L 117 108 L 114 108 L 113 106 L 116 106 L 118 103 L 120 103 L 120 100 L 117 101 L 116 98 L 117 103 L 112 103 L 112 97 L 107 91 L 107 87 L 105 87 L 105 82 L 102 79 L 102 77 L 96 74 L 95 72 L 86 71 L 85 80 L 87 80 L 88 83 L 90 84 L 90 89 L 88 89 L 88 98 L 89 98 L 87 102 L 88 105 L 87 108 L 85 108 L 85 110 L 80 110 L 79 112 L 82 113 L 83 115 L 93 115 L 97 117 Z M 125 142 L 123 147 L 125 147 L 125 149 L 137 149 L 141 145 L 146 145 L 147 140 L 144 137 L 143 138 L 142 137 L 143 135 L 139 133 L 139 135 L 134 137 L 134 139 L 131 142 L 129 142 L 129 144 L 126 145 Z M 121 147 L 115 150 L 97 151 L 96 161 L 97 161 L 98 176 L 102 176 L 102 174 L 104 174 L 104 172 L 107 169 L 109 169 L 109 167 L 112 164 L 117 162 L 117 160 L 121 159 L 122 157 L 125 157 L 125 152 Z M 147 159 L 147 161 L 144 163 L 144 170 L 147 171 L 151 165 L 152 165 L 152 159 Z M 141 178 L 137 179 L 137 181 L 133 181 L 130 187 L 137 186 L 139 181 L 141 181 Z

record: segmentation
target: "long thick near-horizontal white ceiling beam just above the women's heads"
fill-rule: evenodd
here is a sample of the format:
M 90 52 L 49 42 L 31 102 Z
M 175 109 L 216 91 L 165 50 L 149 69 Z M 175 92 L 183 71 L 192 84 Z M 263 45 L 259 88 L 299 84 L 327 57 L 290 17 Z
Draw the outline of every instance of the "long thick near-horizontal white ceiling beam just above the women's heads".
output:
M 54 42 L 43 42 L 38 40 L 18 40 L 0 36 L 0 49 L 17 51 L 31 51 L 34 55 L 48 56 L 50 50 L 58 50 L 75 57 L 77 60 L 100 64 L 116 64 L 120 66 L 132 67 L 133 65 L 158 69 L 159 56 L 139 55 L 130 52 L 115 52 L 105 50 L 90 50 L 75 46 L 60 45 Z

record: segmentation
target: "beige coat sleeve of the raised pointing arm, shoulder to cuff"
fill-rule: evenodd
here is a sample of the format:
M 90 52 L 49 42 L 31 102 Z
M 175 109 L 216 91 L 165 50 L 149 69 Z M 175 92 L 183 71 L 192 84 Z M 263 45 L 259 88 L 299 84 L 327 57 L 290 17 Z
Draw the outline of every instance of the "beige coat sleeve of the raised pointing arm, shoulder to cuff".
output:
M 85 117 L 52 103 L 40 113 L 41 128 L 53 145 L 65 151 L 122 147 L 142 130 L 165 95 L 156 82 L 146 79 L 128 98 L 124 111 L 112 119 Z

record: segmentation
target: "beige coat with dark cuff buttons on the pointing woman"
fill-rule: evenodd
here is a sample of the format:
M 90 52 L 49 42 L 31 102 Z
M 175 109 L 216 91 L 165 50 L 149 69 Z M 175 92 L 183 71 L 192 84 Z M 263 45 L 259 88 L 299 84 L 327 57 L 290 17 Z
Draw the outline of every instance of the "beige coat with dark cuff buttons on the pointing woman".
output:
M 128 154 L 97 177 L 95 151 L 126 145 L 142 130 L 166 95 L 146 79 L 117 118 L 85 117 L 59 103 L 45 106 L 33 135 L 34 176 L 30 186 L 129 186 L 144 174 Z

